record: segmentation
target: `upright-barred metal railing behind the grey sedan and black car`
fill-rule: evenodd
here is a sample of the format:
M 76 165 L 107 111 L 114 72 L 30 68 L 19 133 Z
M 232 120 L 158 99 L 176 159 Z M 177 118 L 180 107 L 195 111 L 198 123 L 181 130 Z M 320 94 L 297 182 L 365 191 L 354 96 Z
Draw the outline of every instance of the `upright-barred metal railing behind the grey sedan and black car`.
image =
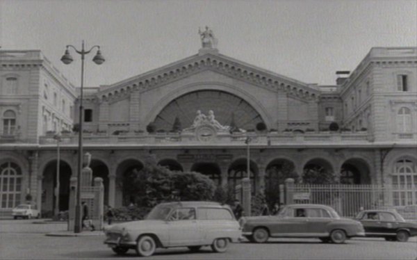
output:
M 395 209 L 409 220 L 417 220 L 416 198 L 406 197 L 402 206 L 393 204 L 397 186 L 377 184 L 295 184 L 293 201 L 332 206 L 341 216 L 354 218 L 361 209 Z M 417 194 L 417 187 L 411 188 Z M 416 196 L 417 197 L 417 196 Z

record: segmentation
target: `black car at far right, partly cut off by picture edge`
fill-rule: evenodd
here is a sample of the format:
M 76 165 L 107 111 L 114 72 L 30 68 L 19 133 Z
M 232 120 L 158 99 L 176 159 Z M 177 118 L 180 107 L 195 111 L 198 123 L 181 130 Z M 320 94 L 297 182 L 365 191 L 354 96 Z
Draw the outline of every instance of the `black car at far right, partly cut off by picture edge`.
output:
M 417 224 L 405 221 L 397 211 L 366 210 L 359 212 L 355 219 L 362 223 L 366 236 L 400 242 L 417 236 Z

